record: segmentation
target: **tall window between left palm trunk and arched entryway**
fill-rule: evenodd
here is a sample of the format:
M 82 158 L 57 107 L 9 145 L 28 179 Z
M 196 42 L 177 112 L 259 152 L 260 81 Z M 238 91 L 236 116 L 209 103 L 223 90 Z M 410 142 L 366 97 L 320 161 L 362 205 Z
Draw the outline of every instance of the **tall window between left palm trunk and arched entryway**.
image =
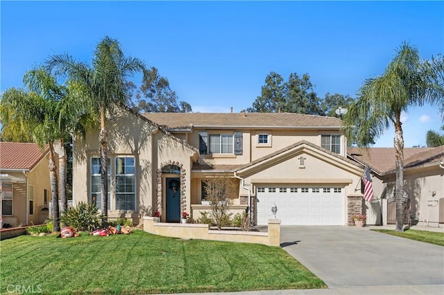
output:
M 115 197 L 116 210 L 135 211 L 135 158 L 115 158 Z

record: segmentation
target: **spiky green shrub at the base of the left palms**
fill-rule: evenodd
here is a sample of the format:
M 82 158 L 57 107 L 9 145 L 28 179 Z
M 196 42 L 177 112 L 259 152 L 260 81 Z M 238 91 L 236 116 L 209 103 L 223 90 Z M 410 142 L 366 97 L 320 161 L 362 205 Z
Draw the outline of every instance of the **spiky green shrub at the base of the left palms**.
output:
M 103 215 L 95 204 L 80 202 L 76 207 L 68 208 L 60 216 L 60 222 L 71 226 L 76 231 L 92 231 L 98 229 L 102 224 Z

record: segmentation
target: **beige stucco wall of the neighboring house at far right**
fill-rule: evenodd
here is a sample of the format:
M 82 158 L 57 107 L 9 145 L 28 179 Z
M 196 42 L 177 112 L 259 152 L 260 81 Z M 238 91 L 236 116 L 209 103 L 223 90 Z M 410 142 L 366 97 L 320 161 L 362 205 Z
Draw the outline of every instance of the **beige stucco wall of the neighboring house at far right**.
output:
M 395 187 L 395 175 L 373 177 L 375 198 L 382 199 L 382 223 L 387 224 L 387 192 Z M 444 169 L 428 165 L 404 170 L 404 190 L 410 199 L 410 213 L 418 215 L 418 224 L 438 226 L 444 222 Z M 436 192 L 433 195 L 433 192 Z

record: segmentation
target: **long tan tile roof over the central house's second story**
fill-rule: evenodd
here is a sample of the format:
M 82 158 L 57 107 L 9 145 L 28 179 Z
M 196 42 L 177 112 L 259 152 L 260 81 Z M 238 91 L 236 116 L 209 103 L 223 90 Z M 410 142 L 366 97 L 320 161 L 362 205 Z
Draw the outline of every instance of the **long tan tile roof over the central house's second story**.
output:
M 293 113 L 145 113 L 167 129 L 189 127 L 341 127 L 339 118 Z

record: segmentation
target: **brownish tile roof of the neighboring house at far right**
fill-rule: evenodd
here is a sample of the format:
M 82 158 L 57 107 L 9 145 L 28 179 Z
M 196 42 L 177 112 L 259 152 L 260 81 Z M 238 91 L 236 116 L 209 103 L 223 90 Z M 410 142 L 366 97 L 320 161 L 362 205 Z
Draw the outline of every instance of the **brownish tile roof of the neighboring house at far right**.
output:
M 349 147 L 349 157 L 369 166 L 379 175 L 395 169 L 394 147 L 370 147 L 363 150 Z M 419 166 L 424 163 L 439 162 L 443 158 L 444 145 L 441 147 L 404 147 L 404 168 Z

